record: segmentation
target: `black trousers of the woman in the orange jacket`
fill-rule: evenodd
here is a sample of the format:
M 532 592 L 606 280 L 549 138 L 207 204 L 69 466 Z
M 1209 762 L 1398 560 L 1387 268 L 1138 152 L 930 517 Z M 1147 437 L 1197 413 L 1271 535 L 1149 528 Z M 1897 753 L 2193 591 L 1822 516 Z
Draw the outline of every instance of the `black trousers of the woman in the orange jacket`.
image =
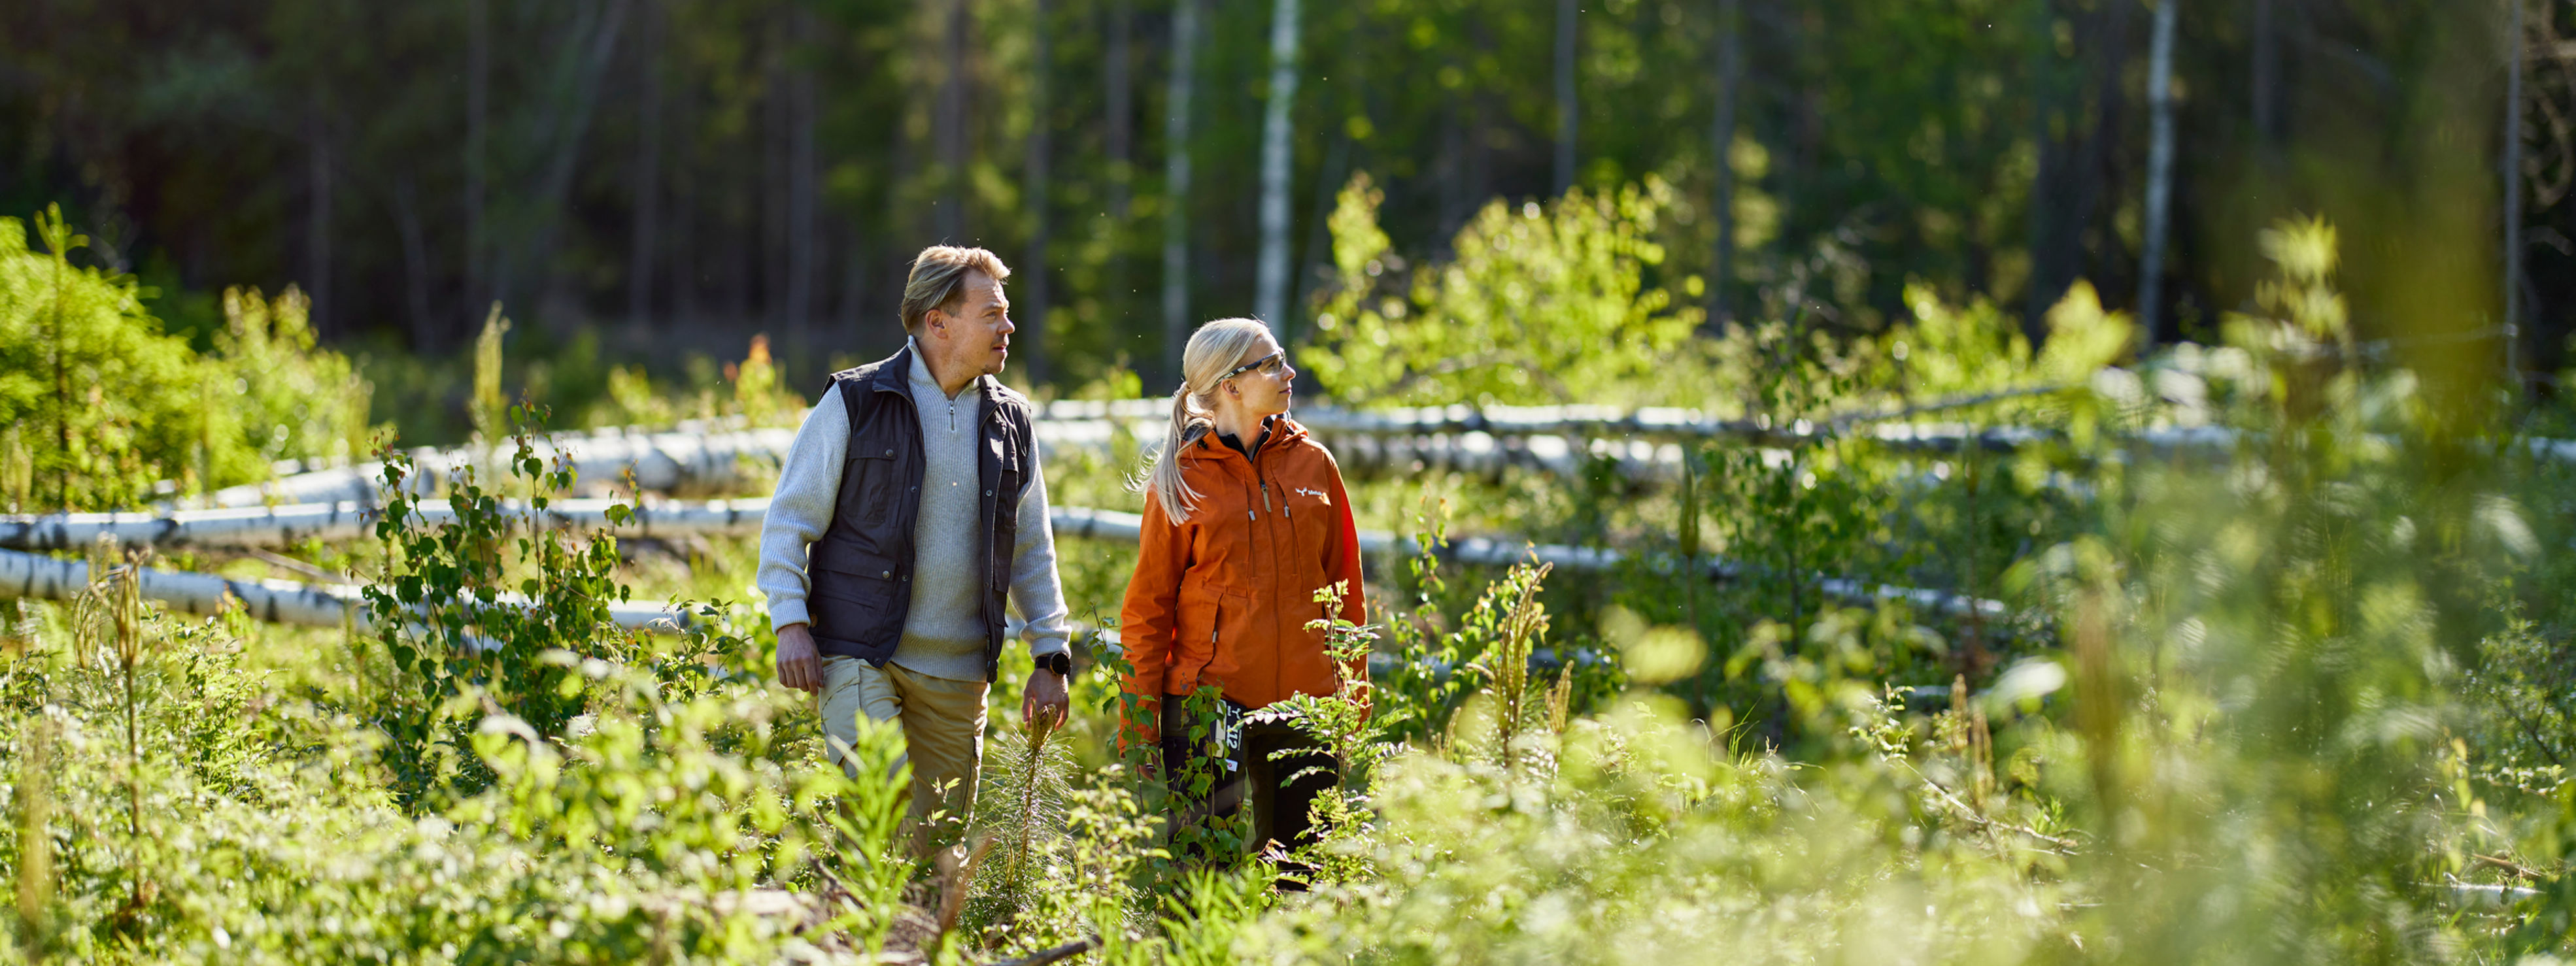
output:
M 1226 701 L 1234 721 L 1244 706 Z M 1314 845 L 1314 799 L 1342 781 L 1332 755 L 1306 732 L 1285 721 L 1247 721 L 1236 742 L 1211 739 L 1224 724 L 1213 716 L 1180 714 L 1177 698 L 1164 698 L 1162 716 L 1162 770 L 1172 783 L 1172 829 L 1182 829 L 1203 817 L 1231 819 L 1252 804 L 1252 853 L 1267 842 L 1280 848 Z M 1198 737 L 1190 726 L 1198 726 Z M 1231 747 L 1229 747 L 1231 744 Z M 1213 781 L 1198 793 L 1190 781 L 1208 773 Z

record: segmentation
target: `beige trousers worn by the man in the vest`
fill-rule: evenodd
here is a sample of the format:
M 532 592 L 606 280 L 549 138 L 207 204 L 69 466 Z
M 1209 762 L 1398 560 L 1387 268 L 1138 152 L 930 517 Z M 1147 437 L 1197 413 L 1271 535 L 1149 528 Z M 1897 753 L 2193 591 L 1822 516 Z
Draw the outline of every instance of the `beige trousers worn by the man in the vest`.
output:
M 832 762 L 858 778 L 858 765 L 840 747 L 858 742 L 858 716 L 899 721 L 904 757 L 912 762 L 912 850 L 927 853 L 930 840 L 951 842 L 974 814 L 976 778 L 984 768 L 984 690 L 981 680 L 930 677 L 902 665 L 868 665 L 858 657 L 822 659 L 822 693 L 814 696 Z M 899 760 L 899 762 L 902 762 Z

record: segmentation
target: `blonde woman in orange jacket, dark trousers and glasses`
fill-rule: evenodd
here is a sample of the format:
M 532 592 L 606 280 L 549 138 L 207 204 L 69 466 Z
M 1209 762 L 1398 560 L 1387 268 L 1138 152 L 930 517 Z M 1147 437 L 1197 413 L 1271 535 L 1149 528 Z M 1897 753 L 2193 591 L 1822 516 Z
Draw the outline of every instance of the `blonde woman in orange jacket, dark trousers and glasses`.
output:
M 1164 698 L 1216 685 L 1224 719 L 1239 721 L 1288 696 L 1332 696 L 1340 675 L 1368 675 L 1365 665 L 1327 659 L 1324 631 L 1306 626 L 1327 616 L 1316 590 L 1337 582 L 1337 616 L 1365 623 L 1360 531 L 1342 469 L 1288 417 L 1296 368 L 1265 325 L 1198 327 L 1180 368 L 1188 379 L 1172 392 L 1172 425 L 1136 482 L 1146 492 L 1144 536 L 1118 626 L 1133 662 L 1126 690 L 1141 698 L 1128 726 L 1159 737 L 1170 775 L 1213 765 L 1213 801 L 1175 796 L 1188 811 L 1231 817 L 1249 793 L 1252 842 L 1309 845 L 1309 806 L 1340 781 L 1332 760 L 1288 724 L 1249 724 L 1242 742 L 1224 742 L 1231 762 L 1206 762 L 1208 744 L 1188 734 L 1218 721 L 1185 721 L 1180 701 Z M 1283 750 L 1309 755 L 1273 760 Z M 1309 768 L 1324 770 L 1280 781 Z

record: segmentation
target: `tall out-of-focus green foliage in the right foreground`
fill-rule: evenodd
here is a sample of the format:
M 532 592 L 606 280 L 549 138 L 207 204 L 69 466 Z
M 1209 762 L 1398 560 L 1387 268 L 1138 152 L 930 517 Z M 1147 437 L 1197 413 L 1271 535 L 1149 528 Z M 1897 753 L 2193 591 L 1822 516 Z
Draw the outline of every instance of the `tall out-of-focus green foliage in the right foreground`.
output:
M 2470 809 L 2439 778 L 2494 621 L 2470 587 L 2527 531 L 2409 374 L 2354 366 L 2321 296 L 2331 234 L 2290 224 L 2272 252 L 2311 296 L 2226 325 L 2231 363 L 2202 371 L 2233 384 L 2208 394 L 2239 430 L 2226 464 L 2105 471 L 2099 526 L 2017 572 L 2074 683 L 2071 739 L 2045 755 L 2081 770 L 2050 793 L 2102 837 L 2084 927 L 2141 956 L 2437 958 L 2468 927 L 2429 884 L 2460 871 Z

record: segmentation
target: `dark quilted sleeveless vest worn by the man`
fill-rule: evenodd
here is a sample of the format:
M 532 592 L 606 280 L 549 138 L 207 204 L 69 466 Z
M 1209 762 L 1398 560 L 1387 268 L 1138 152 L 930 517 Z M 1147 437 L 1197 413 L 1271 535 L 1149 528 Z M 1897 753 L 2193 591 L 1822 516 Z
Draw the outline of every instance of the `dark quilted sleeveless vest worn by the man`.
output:
M 922 507 L 922 420 L 912 404 L 912 348 L 832 374 L 850 412 L 850 453 L 840 469 L 832 526 L 806 556 L 806 611 L 824 654 L 884 667 L 912 611 L 912 526 Z M 984 572 L 984 680 L 1002 662 L 1002 603 L 1020 538 L 1020 495 L 1036 466 L 1028 397 L 976 376 L 984 420 L 976 446 L 976 546 Z

